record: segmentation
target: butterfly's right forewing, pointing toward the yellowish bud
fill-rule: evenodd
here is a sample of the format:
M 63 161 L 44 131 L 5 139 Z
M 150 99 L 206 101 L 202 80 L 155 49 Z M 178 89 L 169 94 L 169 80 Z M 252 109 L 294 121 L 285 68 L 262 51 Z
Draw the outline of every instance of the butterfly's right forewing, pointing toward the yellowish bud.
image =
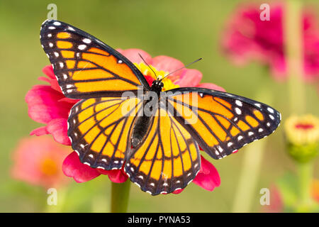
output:
M 179 88 L 166 95 L 172 115 L 215 159 L 273 133 L 281 121 L 272 107 L 235 94 Z

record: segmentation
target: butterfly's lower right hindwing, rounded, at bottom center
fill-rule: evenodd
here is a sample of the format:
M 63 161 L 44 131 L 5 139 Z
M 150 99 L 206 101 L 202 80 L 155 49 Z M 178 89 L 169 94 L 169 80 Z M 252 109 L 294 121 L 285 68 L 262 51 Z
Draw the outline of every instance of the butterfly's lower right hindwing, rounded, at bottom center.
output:
M 130 180 L 152 195 L 183 189 L 201 167 L 197 143 L 164 106 L 152 117 L 145 140 L 125 160 Z

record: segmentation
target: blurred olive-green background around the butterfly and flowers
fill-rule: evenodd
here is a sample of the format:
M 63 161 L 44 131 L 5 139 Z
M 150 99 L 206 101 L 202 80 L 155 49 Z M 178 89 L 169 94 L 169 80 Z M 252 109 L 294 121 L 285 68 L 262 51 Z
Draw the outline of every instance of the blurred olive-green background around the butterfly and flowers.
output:
M 46 192 L 10 177 L 11 152 L 18 140 L 41 126 L 28 117 L 24 101 L 49 61 L 40 40 L 40 25 L 47 17 L 47 5 L 57 4 L 57 19 L 81 28 L 113 48 L 140 48 L 152 56 L 168 55 L 184 63 L 198 57 L 204 60 L 192 67 L 203 72 L 203 82 L 213 82 L 226 91 L 256 99 L 259 89 L 267 87 L 272 106 L 289 114 L 286 83 L 269 77 L 266 67 L 250 63 L 233 65 L 220 49 L 225 22 L 243 1 L 0 1 L 0 211 L 43 211 Z M 319 11 L 318 0 L 304 1 Z M 264 1 L 262 2 L 264 3 Z M 318 94 L 307 85 L 306 108 L 318 113 Z M 259 100 L 266 101 L 266 100 Z M 284 149 L 282 126 L 266 138 L 262 170 L 254 189 L 251 211 L 261 211 L 259 189 L 269 187 L 287 171 L 294 171 Z M 259 141 L 255 143 L 260 143 Z M 190 184 L 179 195 L 150 196 L 132 184 L 130 212 L 228 212 L 232 211 L 238 177 L 245 150 L 223 160 L 213 160 L 221 185 L 207 192 Z M 71 151 L 71 150 L 70 150 Z M 256 150 L 258 152 L 258 150 Z M 207 156 L 205 156 L 207 157 Z M 319 160 L 315 177 L 319 177 Z M 70 180 L 71 181 L 71 180 Z M 69 184 L 67 200 L 61 211 L 108 211 L 111 184 L 106 176 L 90 182 Z

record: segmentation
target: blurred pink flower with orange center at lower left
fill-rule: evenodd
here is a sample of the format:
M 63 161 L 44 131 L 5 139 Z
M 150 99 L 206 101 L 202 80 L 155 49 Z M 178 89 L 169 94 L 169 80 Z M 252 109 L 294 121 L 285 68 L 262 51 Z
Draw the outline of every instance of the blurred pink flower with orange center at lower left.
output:
M 23 138 L 13 151 L 11 175 L 45 188 L 60 187 L 68 182 L 62 162 L 69 151 L 48 137 Z

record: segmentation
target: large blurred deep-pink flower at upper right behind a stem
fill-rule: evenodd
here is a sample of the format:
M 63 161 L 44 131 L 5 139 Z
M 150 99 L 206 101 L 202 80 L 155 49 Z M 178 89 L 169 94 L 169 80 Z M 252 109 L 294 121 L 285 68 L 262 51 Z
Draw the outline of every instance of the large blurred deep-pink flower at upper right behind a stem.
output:
M 270 6 L 270 20 L 262 21 L 257 4 L 239 7 L 228 22 L 223 35 L 223 49 L 236 64 L 259 60 L 269 65 L 278 80 L 286 78 L 284 50 L 284 4 Z M 315 18 L 303 11 L 303 71 L 304 79 L 319 77 L 319 30 Z

